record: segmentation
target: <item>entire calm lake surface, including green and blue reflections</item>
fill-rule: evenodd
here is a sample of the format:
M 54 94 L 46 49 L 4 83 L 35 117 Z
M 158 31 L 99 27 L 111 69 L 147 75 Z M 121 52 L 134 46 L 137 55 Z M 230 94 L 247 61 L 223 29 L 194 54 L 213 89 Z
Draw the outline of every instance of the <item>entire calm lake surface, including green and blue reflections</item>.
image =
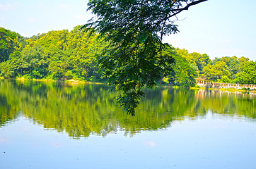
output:
M 0 168 L 256 168 L 256 95 L 0 80 Z

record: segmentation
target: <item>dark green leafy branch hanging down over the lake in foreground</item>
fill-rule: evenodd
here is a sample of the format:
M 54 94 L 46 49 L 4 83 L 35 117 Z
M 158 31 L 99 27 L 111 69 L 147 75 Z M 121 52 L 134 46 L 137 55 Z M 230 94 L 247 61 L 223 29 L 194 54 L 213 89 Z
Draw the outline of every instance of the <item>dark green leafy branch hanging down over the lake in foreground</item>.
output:
M 207 0 L 91 0 L 88 9 L 96 15 L 84 27 L 93 27 L 110 41 L 98 61 L 107 83 L 123 94 L 117 101 L 134 115 L 142 87 L 153 87 L 169 75 L 174 53 L 165 53 L 165 35 L 178 32 L 173 16 Z

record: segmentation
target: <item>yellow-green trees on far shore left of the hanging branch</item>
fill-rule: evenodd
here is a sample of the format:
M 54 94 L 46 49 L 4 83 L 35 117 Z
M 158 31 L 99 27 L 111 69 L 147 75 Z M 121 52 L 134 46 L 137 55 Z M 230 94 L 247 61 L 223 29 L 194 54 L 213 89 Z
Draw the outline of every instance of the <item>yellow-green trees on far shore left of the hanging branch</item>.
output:
M 23 48 L 21 51 L 12 49 L 13 54 L 6 55 L 8 59 L 0 64 L 0 75 L 6 78 L 100 81 L 95 54 L 100 54 L 106 43 L 95 33 L 79 27 L 74 27 L 71 32 L 50 31 L 33 36 L 25 44 L 13 32 Z

